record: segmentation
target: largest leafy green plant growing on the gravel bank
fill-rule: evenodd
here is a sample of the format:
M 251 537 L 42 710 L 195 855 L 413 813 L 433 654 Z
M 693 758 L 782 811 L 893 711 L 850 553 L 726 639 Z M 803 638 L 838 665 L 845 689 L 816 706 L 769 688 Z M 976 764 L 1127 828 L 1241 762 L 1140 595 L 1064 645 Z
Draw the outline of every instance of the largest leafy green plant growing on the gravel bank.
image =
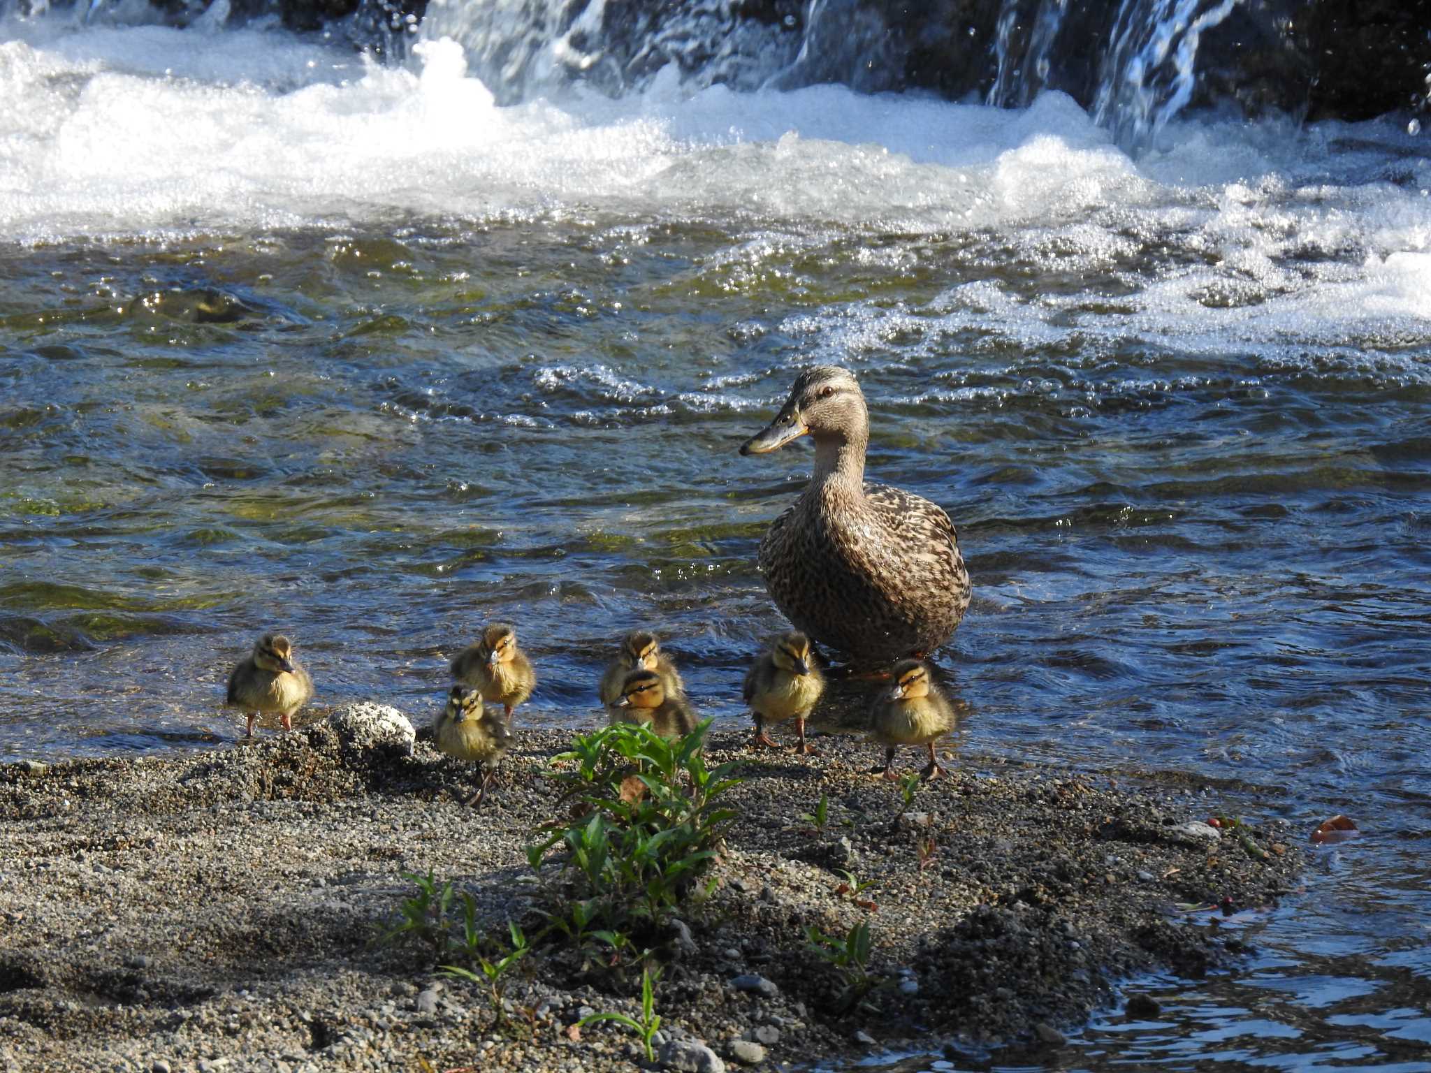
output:
M 580 734 L 554 763 L 564 800 L 582 814 L 541 828 L 527 850 L 532 868 L 562 847 L 565 890 L 550 891 L 555 931 L 578 947 L 585 936 L 605 941 L 605 931 L 630 937 L 658 926 L 695 888 L 716 857 L 734 813 L 718 804 L 733 785 L 733 765 L 705 765 L 701 747 L 710 721 L 684 738 L 667 740 L 650 727 L 617 724 Z M 637 787 L 640 793 L 633 793 Z M 580 914 L 570 907 L 581 904 Z M 561 923 L 555 923 L 555 917 Z M 620 953 L 624 947 L 612 943 Z

